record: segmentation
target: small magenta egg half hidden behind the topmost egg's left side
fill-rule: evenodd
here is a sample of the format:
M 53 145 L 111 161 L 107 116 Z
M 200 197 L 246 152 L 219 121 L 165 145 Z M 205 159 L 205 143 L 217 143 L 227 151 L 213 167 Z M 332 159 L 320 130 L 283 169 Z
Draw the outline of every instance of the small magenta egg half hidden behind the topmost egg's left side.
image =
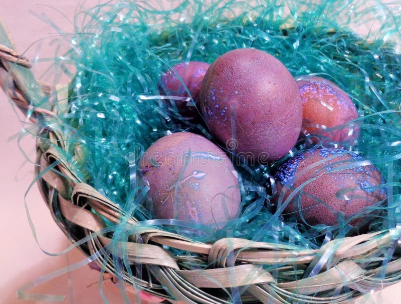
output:
M 164 73 L 159 82 L 159 92 L 161 95 L 189 97 L 196 103 L 200 91 L 200 86 L 205 77 L 206 71 L 210 64 L 200 61 L 182 62 L 172 67 Z M 183 83 L 178 79 L 177 75 L 182 79 Z M 174 101 L 179 112 L 185 116 L 195 114 L 196 108 L 192 102 L 175 100 Z

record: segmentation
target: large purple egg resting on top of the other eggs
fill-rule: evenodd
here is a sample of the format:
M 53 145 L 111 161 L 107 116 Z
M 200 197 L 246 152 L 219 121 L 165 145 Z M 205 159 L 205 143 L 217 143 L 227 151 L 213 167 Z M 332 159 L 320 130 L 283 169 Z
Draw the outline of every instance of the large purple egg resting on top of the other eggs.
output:
M 283 157 L 301 130 L 295 80 L 279 60 L 260 50 L 220 56 L 205 75 L 199 103 L 211 133 L 252 161 Z

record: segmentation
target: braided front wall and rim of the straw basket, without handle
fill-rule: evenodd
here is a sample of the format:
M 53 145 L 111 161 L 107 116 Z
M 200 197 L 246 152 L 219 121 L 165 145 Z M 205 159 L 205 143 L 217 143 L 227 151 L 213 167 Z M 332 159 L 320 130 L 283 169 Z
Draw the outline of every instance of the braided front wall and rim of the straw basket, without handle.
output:
M 45 131 L 46 137 L 53 144 L 62 143 L 63 139 L 50 130 Z M 63 147 L 60 147 L 63 149 Z M 46 149 L 38 145 L 38 163 L 40 170 L 46 170 L 51 164 L 58 163 L 52 171 L 43 174 L 40 189 L 44 199 L 56 222 L 73 242 L 79 241 L 92 232 L 99 231 L 105 226 L 100 216 L 113 223 L 119 223 L 124 218 L 123 211 L 118 205 L 108 200 L 89 185 L 78 180 L 69 164 L 54 149 Z M 38 171 L 38 173 L 40 173 Z M 71 193 L 70 197 L 68 193 Z M 89 208 L 88 208 L 89 207 Z M 56 215 L 58 214 L 58 215 Z M 69 222 L 67 228 L 66 222 Z M 73 227 L 71 227 L 71 223 Z M 214 244 L 195 243 L 180 235 L 172 234 L 156 228 L 141 231 L 135 218 L 127 222 L 127 229 L 140 231 L 143 243 L 137 243 L 135 237 L 124 242 L 121 247 L 126 248 L 128 260 L 132 265 L 141 263 L 157 277 L 158 283 L 174 290 L 177 299 L 185 302 L 225 303 L 227 301 L 211 297 L 198 288 L 221 288 L 248 286 L 248 292 L 261 302 L 280 302 L 276 296 L 285 300 L 285 294 L 297 293 L 301 302 L 317 300 L 311 294 L 327 290 L 335 290 L 338 286 L 348 285 L 351 289 L 368 292 L 371 289 L 382 288 L 393 283 L 397 272 L 401 270 L 401 258 L 393 259 L 385 269 L 381 263 L 369 263 L 363 266 L 363 260 L 369 256 L 381 256 L 383 248 L 395 245 L 399 249 L 397 237 L 390 232 L 376 232 L 354 237 L 332 240 L 319 250 L 299 250 L 291 245 L 278 247 L 277 244 L 250 242 L 245 239 L 223 238 Z M 72 233 L 74 231 L 74 233 Z M 113 240 L 104 235 L 91 238 L 86 246 L 81 246 L 87 254 L 95 254 L 98 250 Z M 190 256 L 207 261 L 210 269 L 185 270 L 180 264 L 190 262 L 193 257 L 172 256 L 164 249 L 177 248 L 187 250 Z M 106 263 L 108 271 L 113 273 L 112 258 L 104 261 L 104 256 L 97 260 L 99 265 Z M 106 257 L 107 258 L 107 257 Z M 322 260 L 322 271 L 314 276 L 292 280 L 291 272 L 304 270 L 310 265 L 316 265 Z M 360 261 L 360 262 L 355 262 Z M 286 278 L 286 282 L 277 282 L 272 274 L 262 266 L 279 267 L 279 277 Z M 386 280 L 374 276 L 385 271 Z M 129 281 L 128 274 L 126 279 Z M 391 279 L 393 278 L 393 279 Z M 135 283 L 144 288 L 151 286 L 148 282 L 134 277 Z M 181 281 L 185 281 L 182 283 Z M 388 282 L 387 282 L 388 281 Z M 185 288 L 184 288 L 185 287 Z M 276 294 L 276 296 L 272 295 Z M 160 295 L 160 294 L 159 294 Z M 182 298 L 182 296 L 185 296 Z M 344 295 L 343 295 L 344 296 Z M 346 299 L 339 295 L 336 301 Z M 333 298 L 334 299 L 334 298 Z M 330 299 L 332 301 L 333 299 Z M 320 299 L 321 302 L 326 302 Z M 283 301 L 285 302 L 285 301 Z M 329 302 L 329 301 L 327 301 Z

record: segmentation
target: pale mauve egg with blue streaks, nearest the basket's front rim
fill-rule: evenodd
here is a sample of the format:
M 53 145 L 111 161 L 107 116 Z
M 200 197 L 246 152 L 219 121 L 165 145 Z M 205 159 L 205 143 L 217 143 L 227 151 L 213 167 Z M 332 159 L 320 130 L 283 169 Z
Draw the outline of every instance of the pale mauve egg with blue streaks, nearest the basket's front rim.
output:
M 221 228 L 238 216 L 240 187 L 227 155 L 189 132 L 164 136 L 140 161 L 155 219 L 179 219 Z

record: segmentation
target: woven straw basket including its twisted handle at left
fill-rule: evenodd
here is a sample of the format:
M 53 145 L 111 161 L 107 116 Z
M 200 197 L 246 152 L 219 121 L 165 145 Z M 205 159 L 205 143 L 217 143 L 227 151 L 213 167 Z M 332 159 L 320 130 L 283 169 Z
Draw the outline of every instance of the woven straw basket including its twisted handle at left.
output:
M 29 63 L 14 52 L 5 33 L 0 38 L 2 88 L 33 120 L 57 115 L 56 109 L 32 103 L 46 98 L 48 87 L 32 86 L 35 80 L 28 70 Z M 7 80 L 10 70 L 12 79 Z M 68 102 L 67 87 L 57 90 L 57 99 Z M 228 298 L 227 290 L 231 290 L 234 298 L 238 296 L 242 302 L 323 304 L 345 302 L 401 279 L 399 231 L 338 238 L 318 250 L 239 238 L 223 238 L 213 244 L 194 242 L 161 229 L 144 228 L 133 217 L 127 219 L 116 203 L 79 178 L 81 175 L 62 153 L 68 149 L 63 134 L 47 127 L 38 134 L 36 147 L 35 168 L 41 176 L 38 185 L 54 220 L 100 267 L 116 277 L 122 276 L 127 290 L 135 285 L 166 300 L 185 303 L 229 303 L 233 300 Z M 135 235 L 128 241 L 116 242 L 102 217 L 116 224 L 125 219 L 127 227 L 135 228 L 140 235 L 141 242 Z M 171 248 L 187 254 L 174 256 Z M 118 250 L 126 252 L 132 274 L 118 270 Z M 387 250 L 392 255 L 383 267 Z M 374 257 L 377 262 L 371 261 Z M 368 259 L 370 262 L 366 262 Z M 185 267 L 199 260 L 210 267 Z M 274 270 L 266 270 L 269 268 Z M 315 274 L 297 279 L 303 271 Z M 379 274 L 383 278 L 378 278 Z

